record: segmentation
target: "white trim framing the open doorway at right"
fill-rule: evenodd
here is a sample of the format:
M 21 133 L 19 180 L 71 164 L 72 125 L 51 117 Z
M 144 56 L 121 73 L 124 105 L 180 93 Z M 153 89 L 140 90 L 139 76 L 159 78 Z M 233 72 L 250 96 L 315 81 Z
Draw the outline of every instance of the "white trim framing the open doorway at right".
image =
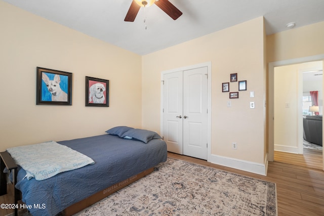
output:
M 274 160 L 274 68 L 279 66 L 285 66 L 285 65 L 291 65 L 291 64 L 299 64 L 304 62 L 313 62 L 313 61 L 322 61 L 324 59 L 324 54 L 321 55 L 315 55 L 315 56 L 307 56 L 302 58 L 296 58 L 296 59 L 288 59 L 288 60 L 282 60 L 282 61 L 276 61 L 276 62 L 270 62 L 268 65 L 268 85 L 269 85 L 269 112 L 268 112 L 268 160 L 273 161 Z M 324 156 L 324 151 L 323 151 Z M 324 169 L 324 167 L 323 167 Z

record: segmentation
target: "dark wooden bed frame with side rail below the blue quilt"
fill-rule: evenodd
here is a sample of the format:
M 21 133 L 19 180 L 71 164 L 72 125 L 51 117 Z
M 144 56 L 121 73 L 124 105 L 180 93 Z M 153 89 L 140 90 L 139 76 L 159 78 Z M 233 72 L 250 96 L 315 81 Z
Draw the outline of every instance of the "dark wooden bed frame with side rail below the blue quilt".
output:
M 3 170 L 5 169 L 5 167 L 7 167 L 8 170 L 10 170 L 13 174 L 13 182 L 12 185 L 13 187 L 16 185 L 17 183 L 17 164 L 15 163 L 15 161 L 13 160 L 13 158 L 10 156 L 10 154 L 5 151 L 5 152 L 0 152 L 0 156 L 1 156 L 1 164 L 0 164 L 0 196 L 7 194 L 7 182 L 11 182 L 9 180 L 9 177 L 7 176 L 7 174 L 5 174 L 3 172 Z M 113 194 L 114 192 L 120 190 L 121 188 L 124 188 L 130 184 L 132 184 L 133 182 L 136 182 L 137 180 L 143 178 L 144 176 L 150 174 L 152 171 L 154 170 L 154 167 L 151 167 L 149 169 L 146 169 L 142 172 L 140 172 L 139 174 L 132 176 L 124 181 L 121 181 L 119 183 L 116 183 L 114 185 L 111 185 L 109 187 L 107 187 L 106 189 L 97 192 L 96 194 L 93 194 L 91 196 L 89 196 L 88 198 L 81 200 L 77 203 L 74 203 L 72 205 L 70 205 L 69 207 L 67 207 L 66 209 L 63 210 L 63 215 L 65 216 L 70 216 L 72 214 L 75 214 L 77 212 L 79 212 L 82 209 L 85 209 L 86 207 L 98 202 L 99 200 L 109 196 L 110 194 Z M 18 205 L 18 201 L 21 199 L 21 193 L 18 189 L 16 189 L 16 187 L 14 187 L 14 200 L 15 200 L 15 204 Z M 15 212 L 14 215 L 17 216 L 18 215 L 18 208 L 15 208 Z

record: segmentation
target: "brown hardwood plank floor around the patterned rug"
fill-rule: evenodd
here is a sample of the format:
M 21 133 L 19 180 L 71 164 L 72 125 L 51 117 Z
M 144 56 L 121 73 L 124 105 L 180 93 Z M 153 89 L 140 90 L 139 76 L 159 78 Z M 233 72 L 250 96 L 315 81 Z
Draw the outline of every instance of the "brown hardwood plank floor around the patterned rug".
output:
M 276 159 L 282 161 L 269 162 L 267 176 L 252 174 L 251 172 L 220 166 L 206 160 L 171 152 L 168 153 L 168 156 L 276 183 L 279 216 L 324 215 L 324 171 L 309 168 L 307 164 L 310 162 L 308 162 L 309 159 L 306 155 L 304 155 L 304 158 L 294 158 L 293 156 L 298 155 L 290 155 L 290 158 L 284 159 L 282 157 L 280 159 L 279 155 L 275 154 Z M 287 163 L 291 161 L 296 162 L 297 165 Z M 7 195 L 0 196 L 0 203 L 12 203 L 12 201 L 11 190 Z M 10 212 L 10 210 L 0 208 L 0 215 L 6 215 Z

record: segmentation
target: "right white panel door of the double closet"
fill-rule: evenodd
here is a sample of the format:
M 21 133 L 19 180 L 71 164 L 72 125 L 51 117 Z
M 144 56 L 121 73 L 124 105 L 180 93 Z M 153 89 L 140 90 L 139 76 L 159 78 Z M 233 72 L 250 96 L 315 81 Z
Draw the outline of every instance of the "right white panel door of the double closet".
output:
M 207 160 L 208 68 L 183 72 L 183 154 Z

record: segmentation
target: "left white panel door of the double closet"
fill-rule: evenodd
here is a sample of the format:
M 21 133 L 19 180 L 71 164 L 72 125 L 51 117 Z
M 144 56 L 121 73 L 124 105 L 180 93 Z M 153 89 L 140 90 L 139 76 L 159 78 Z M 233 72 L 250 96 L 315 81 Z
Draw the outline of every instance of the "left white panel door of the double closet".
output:
M 164 74 L 163 80 L 163 136 L 168 151 L 183 154 L 182 112 L 183 112 L 183 72 Z

